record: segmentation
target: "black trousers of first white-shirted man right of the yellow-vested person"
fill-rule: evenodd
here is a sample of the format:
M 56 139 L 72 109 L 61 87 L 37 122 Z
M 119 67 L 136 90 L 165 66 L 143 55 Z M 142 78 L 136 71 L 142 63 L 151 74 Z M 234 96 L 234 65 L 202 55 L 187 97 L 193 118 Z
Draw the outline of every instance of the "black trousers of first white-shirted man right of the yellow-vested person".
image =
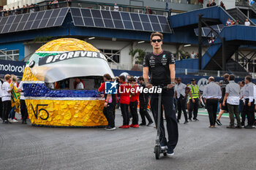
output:
M 210 120 L 210 125 L 215 125 L 217 117 L 218 99 L 207 99 L 206 106 Z

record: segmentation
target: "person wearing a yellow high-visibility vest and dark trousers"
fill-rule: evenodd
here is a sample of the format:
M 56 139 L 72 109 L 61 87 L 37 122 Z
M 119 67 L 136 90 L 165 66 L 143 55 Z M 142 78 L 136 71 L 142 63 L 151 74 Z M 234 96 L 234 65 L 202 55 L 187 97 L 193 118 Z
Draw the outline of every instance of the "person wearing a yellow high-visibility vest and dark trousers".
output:
M 198 104 L 201 101 L 200 90 L 198 85 L 195 84 L 195 79 L 191 80 L 191 85 L 189 85 L 189 120 L 192 121 L 192 112 L 193 112 L 193 120 L 198 121 L 197 112 L 198 112 Z

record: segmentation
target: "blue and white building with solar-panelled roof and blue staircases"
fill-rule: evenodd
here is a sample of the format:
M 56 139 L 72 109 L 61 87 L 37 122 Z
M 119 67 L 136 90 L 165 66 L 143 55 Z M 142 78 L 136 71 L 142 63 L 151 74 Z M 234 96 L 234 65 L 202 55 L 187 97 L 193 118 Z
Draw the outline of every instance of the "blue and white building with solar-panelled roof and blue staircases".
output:
M 14 0 L 5 7 L 30 3 L 38 3 L 39 10 L 29 7 L 28 13 L 0 18 L 0 59 L 27 61 L 45 42 L 75 37 L 101 50 L 111 69 L 140 70 L 141 62 L 131 52 L 150 53 L 149 36 L 159 31 L 164 34 L 163 48 L 176 55 L 178 74 L 255 76 L 256 10 L 244 1 L 227 1 L 227 10 L 182 0 L 116 1 L 118 12 L 110 0 L 72 1 L 71 5 L 59 1 L 59 8 L 52 5 L 50 9 L 48 1 Z M 226 26 L 228 18 L 238 20 L 238 25 Z M 246 19 L 251 26 L 244 26 Z M 215 40 L 209 44 L 211 36 Z M 199 58 L 181 60 L 192 51 Z

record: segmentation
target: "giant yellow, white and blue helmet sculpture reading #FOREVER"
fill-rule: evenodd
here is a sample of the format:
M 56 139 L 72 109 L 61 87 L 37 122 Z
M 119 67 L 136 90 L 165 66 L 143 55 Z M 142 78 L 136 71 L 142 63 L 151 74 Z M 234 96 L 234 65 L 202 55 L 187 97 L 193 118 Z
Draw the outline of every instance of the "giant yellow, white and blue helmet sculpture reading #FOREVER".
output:
M 40 47 L 23 74 L 26 106 L 32 125 L 95 127 L 108 125 L 104 98 L 97 89 L 51 89 L 50 83 L 73 77 L 102 77 L 113 72 L 105 56 L 79 39 L 56 39 Z

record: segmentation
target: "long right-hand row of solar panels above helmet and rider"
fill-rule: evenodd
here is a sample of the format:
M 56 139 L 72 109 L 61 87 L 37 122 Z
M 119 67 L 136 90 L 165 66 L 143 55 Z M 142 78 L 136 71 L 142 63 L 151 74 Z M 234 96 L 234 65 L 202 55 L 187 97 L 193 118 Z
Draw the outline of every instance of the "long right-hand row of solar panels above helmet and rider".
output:
M 74 26 L 171 33 L 165 16 L 74 7 L 70 7 L 70 12 Z

